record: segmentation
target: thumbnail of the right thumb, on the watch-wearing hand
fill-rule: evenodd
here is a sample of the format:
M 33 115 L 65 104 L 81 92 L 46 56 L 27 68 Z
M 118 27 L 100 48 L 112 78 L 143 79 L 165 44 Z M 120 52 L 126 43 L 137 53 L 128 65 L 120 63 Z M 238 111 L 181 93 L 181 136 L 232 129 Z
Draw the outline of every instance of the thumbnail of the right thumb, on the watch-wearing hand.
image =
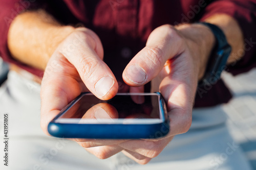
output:
M 125 76 L 135 84 L 141 84 L 146 80 L 146 73 L 144 69 L 135 64 L 126 69 Z

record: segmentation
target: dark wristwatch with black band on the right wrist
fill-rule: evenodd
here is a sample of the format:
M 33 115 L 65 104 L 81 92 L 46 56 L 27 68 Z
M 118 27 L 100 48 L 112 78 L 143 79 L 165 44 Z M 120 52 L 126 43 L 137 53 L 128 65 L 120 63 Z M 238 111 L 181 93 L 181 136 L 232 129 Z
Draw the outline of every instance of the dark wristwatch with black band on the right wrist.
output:
M 231 53 L 231 46 L 228 44 L 223 31 L 216 25 L 207 22 L 197 22 L 207 26 L 215 36 L 216 44 L 209 57 L 205 74 L 198 82 L 198 87 L 216 84 L 221 78 L 221 72 L 226 68 L 227 59 Z

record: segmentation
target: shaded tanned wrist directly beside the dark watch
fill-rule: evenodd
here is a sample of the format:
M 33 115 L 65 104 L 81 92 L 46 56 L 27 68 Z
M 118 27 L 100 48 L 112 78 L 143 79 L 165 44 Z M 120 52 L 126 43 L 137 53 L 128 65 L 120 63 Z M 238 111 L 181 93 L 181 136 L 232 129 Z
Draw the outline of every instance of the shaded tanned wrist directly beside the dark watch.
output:
M 177 26 L 176 29 L 187 39 L 187 46 L 194 61 L 198 80 L 204 76 L 207 62 L 215 46 L 215 36 L 211 30 L 198 23 Z

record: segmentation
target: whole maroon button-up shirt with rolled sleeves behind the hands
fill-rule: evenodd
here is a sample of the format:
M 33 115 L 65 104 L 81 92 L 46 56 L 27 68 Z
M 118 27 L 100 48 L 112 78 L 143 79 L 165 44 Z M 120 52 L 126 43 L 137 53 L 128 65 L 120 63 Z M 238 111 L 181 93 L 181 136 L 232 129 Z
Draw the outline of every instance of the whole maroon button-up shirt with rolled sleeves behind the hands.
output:
M 256 1 L 252 0 L 9 0 L 0 1 L 0 56 L 33 74 L 42 77 L 43 71 L 13 59 L 7 47 L 7 34 L 13 18 L 24 10 L 45 9 L 64 25 L 92 29 L 101 39 L 104 61 L 119 81 L 119 88 L 127 89 L 122 81 L 126 64 L 144 46 L 148 35 L 157 27 L 181 22 L 195 22 L 225 13 L 235 18 L 244 34 L 245 56 L 226 70 L 233 75 L 256 66 Z M 147 86 L 147 90 L 149 87 Z M 223 81 L 198 91 L 195 107 L 226 103 L 231 93 Z

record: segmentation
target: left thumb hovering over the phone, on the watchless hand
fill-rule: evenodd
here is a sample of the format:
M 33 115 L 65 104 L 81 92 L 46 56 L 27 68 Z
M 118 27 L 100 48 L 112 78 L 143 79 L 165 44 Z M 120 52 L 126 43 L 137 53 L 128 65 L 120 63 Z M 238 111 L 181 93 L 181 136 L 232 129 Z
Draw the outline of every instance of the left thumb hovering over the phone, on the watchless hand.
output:
M 89 29 L 71 34 L 59 53 L 74 65 L 81 80 L 99 99 L 109 100 L 117 93 L 118 83 L 103 59 L 99 37 Z

